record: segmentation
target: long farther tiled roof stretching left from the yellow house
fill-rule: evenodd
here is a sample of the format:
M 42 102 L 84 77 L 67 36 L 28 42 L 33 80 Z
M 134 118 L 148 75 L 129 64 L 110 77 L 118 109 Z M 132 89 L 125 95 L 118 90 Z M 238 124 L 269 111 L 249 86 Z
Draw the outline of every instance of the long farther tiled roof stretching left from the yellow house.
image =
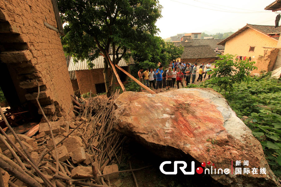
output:
M 224 49 L 223 45 L 217 45 L 218 42 L 221 42 L 223 39 L 189 39 L 185 42 L 174 43 L 175 46 L 205 46 L 209 45 L 213 50 L 219 48 L 219 50 Z

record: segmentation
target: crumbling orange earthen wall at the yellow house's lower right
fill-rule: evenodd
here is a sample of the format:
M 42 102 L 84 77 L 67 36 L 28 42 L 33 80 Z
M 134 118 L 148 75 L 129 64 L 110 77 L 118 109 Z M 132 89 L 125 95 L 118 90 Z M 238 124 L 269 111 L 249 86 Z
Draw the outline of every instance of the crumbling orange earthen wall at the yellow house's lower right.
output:
M 253 73 L 260 73 L 262 70 L 264 71 L 272 71 L 277 59 L 279 49 L 273 48 L 273 49 L 268 49 L 266 55 L 263 57 L 259 58 L 254 58 L 252 61 L 255 61 L 256 63 L 254 66 L 256 66 L 258 69 L 253 70 Z

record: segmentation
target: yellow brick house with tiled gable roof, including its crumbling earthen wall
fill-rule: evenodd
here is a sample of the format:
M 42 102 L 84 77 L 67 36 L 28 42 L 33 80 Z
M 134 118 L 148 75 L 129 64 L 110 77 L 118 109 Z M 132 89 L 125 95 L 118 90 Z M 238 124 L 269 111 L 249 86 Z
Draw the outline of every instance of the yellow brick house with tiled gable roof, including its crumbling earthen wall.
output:
M 247 24 L 228 38 L 220 41 L 224 45 L 224 54 L 238 55 L 255 61 L 259 73 L 261 70 L 272 71 L 279 50 L 276 49 L 281 27 Z M 244 59 L 244 58 L 243 58 Z

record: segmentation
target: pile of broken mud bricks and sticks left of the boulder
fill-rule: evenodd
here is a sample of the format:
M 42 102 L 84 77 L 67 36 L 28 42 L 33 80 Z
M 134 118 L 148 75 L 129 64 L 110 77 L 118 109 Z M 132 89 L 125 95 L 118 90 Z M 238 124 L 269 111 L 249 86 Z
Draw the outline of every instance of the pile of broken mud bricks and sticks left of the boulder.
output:
M 110 186 L 110 180 L 118 177 L 116 163 L 125 140 L 113 128 L 117 94 L 76 100 L 82 112 L 75 120 L 49 122 L 59 163 L 47 123 L 40 123 L 39 133 L 33 137 L 2 132 L 0 167 L 4 185 Z

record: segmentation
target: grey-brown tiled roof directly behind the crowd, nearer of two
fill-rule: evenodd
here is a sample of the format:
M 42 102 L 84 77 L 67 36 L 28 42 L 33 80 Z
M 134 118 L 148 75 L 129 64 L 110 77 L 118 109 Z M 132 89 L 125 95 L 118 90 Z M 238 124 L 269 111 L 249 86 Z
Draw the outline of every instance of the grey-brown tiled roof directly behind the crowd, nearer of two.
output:
M 185 46 L 181 59 L 215 58 L 217 53 L 208 46 Z

